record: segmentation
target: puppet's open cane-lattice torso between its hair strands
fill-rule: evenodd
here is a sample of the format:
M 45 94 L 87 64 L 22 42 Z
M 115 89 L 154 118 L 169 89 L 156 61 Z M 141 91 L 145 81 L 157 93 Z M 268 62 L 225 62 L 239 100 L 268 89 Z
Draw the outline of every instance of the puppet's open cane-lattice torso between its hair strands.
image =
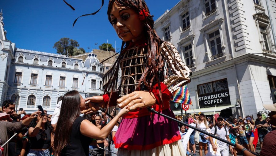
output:
M 144 48 L 134 47 L 128 49 L 121 59 L 122 80 L 121 94 L 127 95 L 135 91 L 137 84 L 145 70 L 146 56 Z

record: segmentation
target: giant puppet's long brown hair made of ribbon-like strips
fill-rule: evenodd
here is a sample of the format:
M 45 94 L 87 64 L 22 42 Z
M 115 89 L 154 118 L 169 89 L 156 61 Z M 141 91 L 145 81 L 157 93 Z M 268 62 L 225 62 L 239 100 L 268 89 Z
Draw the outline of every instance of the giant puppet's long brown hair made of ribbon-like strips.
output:
M 110 0 L 108 4 L 108 9 L 107 9 L 107 15 L 108 15 L 109 22 L 111 24 L 112 22 L 110 19 L 110 13 L 111 13 L 113 3 L 133 9 L 134 11 L 136 11 L 137 14 L 143 13 L 145 16 L 145 12 L 147 13 L 147 16 L 145 16 L 145 19 L 143 20 L 144 32 L 147 37 L 147 40 L 145 41 L 145 43 L 147 44 L 147 47 L 145 49 L 147 49 L 148 51 L 147 65 L 144 70 L 144 73 L 142 74 L 139 80 L 136 90 L 140 90 L 141 83 L 143 83 L 145 87 L 150 89 L 157 82 L 159 84 L 159 94 L 161 95 L 159 73 L 163 71 L 163 67 L 164 67 L 162 56 L 161 56 L 161 48 L 160 48 L 163 41 L 161 41 L 161 39 L 159 38 L 159 36 L 157 35 L 157 33 L 153 28 L 154 20 L 150 15 L 147 4 L 145 3 L 144 0 Z M 120 89 L 120 87 L 118 89 L 117 88 L 115 89 L 117 85 L 120 60 L 124 54 L 124 51 L 127 49 L 128 45 L 130 44 L 130 42 L 131 41 L 122 42 L 121 53 L 118 56 L 118 59 L 114 63 L 113 67 L 110 69 L 113 77 L 110 79 L 110 81 L 108 81 L 106 85 L 107 87 L 105 88 L 105 93 L 108 91 L 113 92 L 115 90 Z

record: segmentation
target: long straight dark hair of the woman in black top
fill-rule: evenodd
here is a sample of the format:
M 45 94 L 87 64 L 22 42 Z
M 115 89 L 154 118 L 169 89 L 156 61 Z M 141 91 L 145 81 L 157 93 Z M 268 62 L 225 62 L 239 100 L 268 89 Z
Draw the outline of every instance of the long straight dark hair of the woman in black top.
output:
M 56 125 L 54 155 L 60 155 L 61 150 L 69 143 L 72 125 L 80 114 L 80 95 L 78 91 L 69 91 L 63 95 L 59 119 Z

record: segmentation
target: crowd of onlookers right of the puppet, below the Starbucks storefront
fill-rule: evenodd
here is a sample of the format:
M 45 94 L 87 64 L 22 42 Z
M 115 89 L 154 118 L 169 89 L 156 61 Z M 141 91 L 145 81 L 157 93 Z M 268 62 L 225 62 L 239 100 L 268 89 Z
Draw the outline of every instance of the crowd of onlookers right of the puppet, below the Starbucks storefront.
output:
M 273 115 L 273 111 L 270 114 Z M 276 126 L 270 122 L 270 117 L 264 119 L 260 113 L 257 114 L 257 119 L 254 119 L 253 115 L 245 116 L 244 118 L 240 116 L 238 118 L 233 116 L 228 118 L 215 118 L 213 115 L 207 117 L 204 113 L 188 114 L 186 117 L 176 116 L 176 118 L 179 121 L 184 121 L 186 124 L 193 124 L 194 127 L 216 135 L 233 144 L 240 144 L 246 150 L 256 153 L 256 147 L 259 146 L 259 150 L 263 151 L 263 155 L 272 155 L 269 151 L 264 150 L 263 142 L 266 134 L 274 131 Z M 185 137 L 189 128 L 180 124 L 178 126 L 182 138 Z M 276 139 L 275 136 L 274 139 Z M 195 144 L 199 146 L 198 153 L 200 156 L 203 155 L 203 151 L 205 155 L 216 155 L 216 152 L 219 152 L 221 156 L 228 156 L 229 154 L 236 156 L 239 152 L 231 145 L 227 145 L 220 140 L 194 130 L 190 134 L 188 144 L 183 145 L 187 148 L 187 155 L 196 155 Z M 274 150 L 276 150 L 275 144 L 273 146 Z

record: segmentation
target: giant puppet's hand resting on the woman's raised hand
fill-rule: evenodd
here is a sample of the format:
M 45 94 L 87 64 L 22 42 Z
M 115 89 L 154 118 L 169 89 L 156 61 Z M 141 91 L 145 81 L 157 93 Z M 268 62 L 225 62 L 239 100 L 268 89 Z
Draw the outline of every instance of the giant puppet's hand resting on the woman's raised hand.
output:
M 153 93 L 149 91 L 134 91 L 117 100 L 117 103 L 119 103 L 118 106 L 120 108 L 128 106 L 129 110 L 152 106 L 155 104 L 155 102 L 156 99 Z

